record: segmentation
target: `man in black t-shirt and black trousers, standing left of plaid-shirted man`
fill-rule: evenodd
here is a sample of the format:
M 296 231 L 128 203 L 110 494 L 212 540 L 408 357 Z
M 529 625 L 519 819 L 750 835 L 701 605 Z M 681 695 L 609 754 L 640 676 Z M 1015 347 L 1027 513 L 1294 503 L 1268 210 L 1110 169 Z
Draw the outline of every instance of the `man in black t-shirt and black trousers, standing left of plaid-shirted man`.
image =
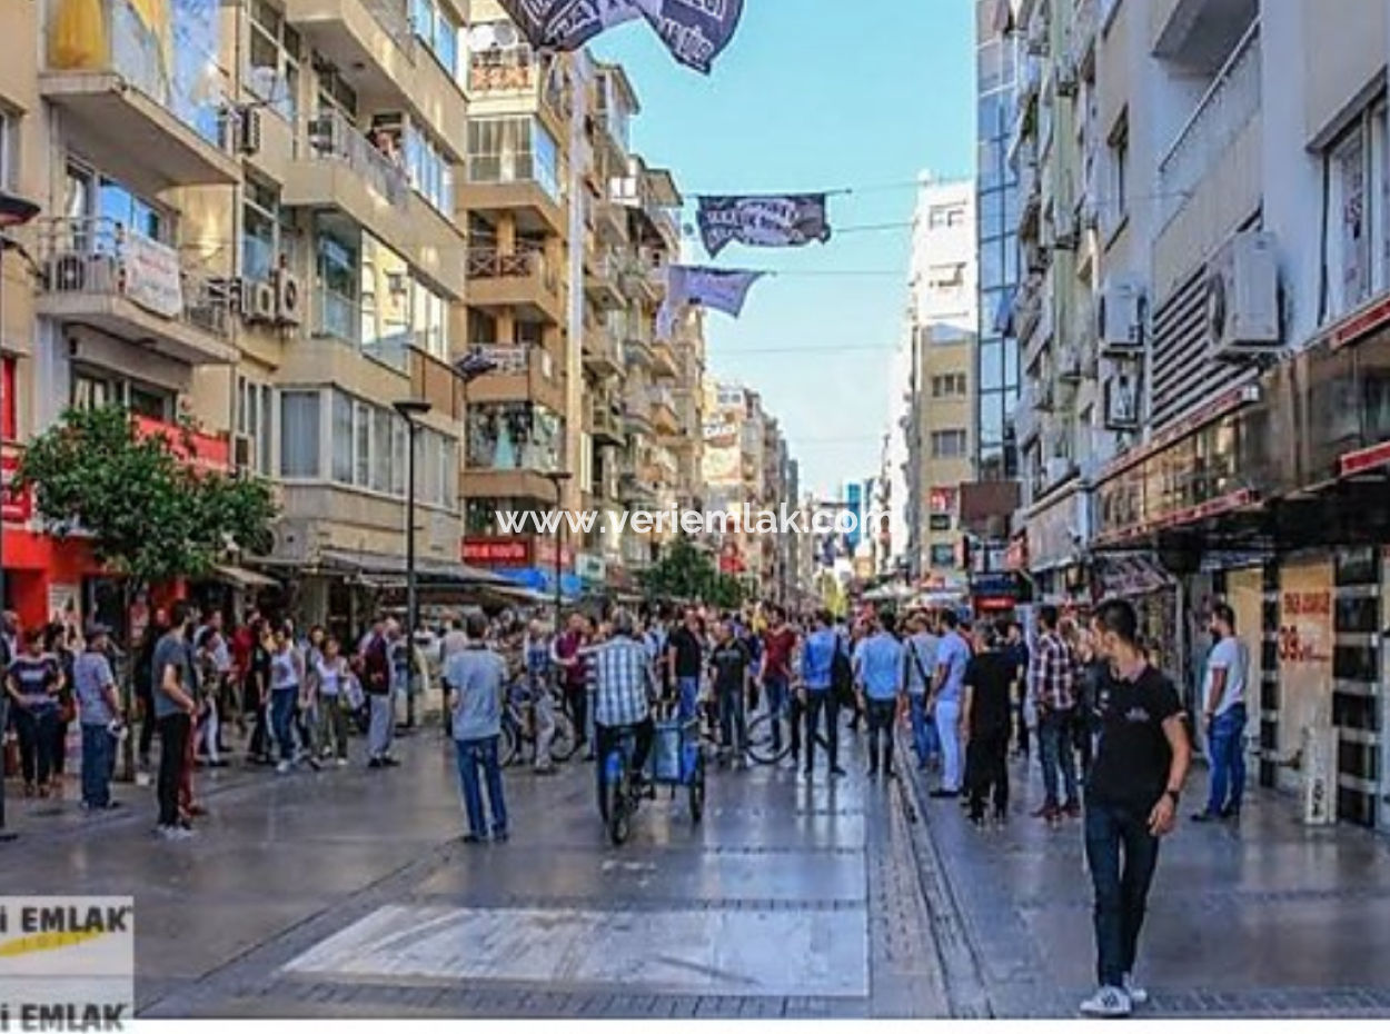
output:
M 992 799 L 995 821 L 1002 823 L 1009 812 L 1011 692 L 1016 667 L 1001 645 L 994 627 L 980 625 L 974 656 L 965 668 L 960 737 L 966 741 L 966 788 L 970 821 L 976 826 L 984 823 L 986 798 Z

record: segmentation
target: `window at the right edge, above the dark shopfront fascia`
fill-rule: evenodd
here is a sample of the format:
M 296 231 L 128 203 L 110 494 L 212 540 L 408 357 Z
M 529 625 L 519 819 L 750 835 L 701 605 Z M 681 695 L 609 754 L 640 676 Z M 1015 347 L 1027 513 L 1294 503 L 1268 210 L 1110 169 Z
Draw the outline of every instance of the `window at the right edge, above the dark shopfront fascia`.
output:
M 1390 177 L 1386 108 L 1364 113 L 1327 149 L 1329 315 L 1343 315 L 1387 286 Z

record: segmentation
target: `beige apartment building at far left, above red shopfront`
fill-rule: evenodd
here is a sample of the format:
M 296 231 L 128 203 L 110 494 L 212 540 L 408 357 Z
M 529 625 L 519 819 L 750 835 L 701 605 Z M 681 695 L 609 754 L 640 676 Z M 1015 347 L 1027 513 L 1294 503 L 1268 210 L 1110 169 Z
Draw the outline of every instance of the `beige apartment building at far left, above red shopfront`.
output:
M 403 570 L 417 442 L 423 573 L 457 570 L 466 272 L 453 168 L 467 95 L 455 0 L 7 7 L 4 188 L 40 206 L 6 263 L 7 449 L 70 404 L 192 420 L 199 461 L 279 484 L 270 563 L 304 613 Z M 407 427 L 393 410 L 428 402 Z M 7 467 L 14 454 L 7 452 Z M 25 620 L 100 568 L 6 509 Z M 124 624 L 120 613 L 103 614 Z

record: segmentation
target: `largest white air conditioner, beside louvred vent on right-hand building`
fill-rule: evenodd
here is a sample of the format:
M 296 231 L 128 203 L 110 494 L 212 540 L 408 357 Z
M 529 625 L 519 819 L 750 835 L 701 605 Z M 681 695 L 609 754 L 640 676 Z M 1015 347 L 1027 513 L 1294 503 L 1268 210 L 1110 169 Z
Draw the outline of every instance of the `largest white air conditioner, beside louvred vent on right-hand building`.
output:
M 1250 363 L 1279 352 L 1283 334 L 1273 233 L 1236 233 L 1211 261 L 1207 336 L 1218 363 Z

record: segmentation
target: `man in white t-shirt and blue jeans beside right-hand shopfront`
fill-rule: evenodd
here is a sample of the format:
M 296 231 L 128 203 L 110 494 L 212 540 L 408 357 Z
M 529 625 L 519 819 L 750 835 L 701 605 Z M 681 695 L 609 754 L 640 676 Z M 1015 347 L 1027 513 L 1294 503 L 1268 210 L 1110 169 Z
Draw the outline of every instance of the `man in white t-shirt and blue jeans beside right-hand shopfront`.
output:
M 1245 794 L 1245 688 L 1250 681 L 1250 653 L 1236 638 L 1236 612 L 1229 603 L 1212 607 L 1211 632 L 1215 645 L 1207 657 L 1202 710 L 1212 776 L 1207 809 L 1193 816 L 1193 821 L 1198 823 L 1238 819 L 1240 801 Z

